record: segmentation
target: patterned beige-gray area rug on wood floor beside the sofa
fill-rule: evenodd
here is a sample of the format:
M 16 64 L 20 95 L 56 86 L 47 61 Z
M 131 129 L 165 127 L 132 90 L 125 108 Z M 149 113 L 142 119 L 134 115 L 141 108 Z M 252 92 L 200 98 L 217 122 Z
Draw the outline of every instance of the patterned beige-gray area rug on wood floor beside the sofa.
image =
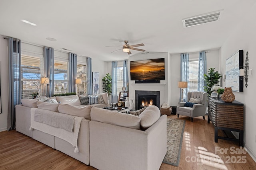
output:
M 167 153 L 163 163 L 178 166 L 185 120 L 167 118 Z

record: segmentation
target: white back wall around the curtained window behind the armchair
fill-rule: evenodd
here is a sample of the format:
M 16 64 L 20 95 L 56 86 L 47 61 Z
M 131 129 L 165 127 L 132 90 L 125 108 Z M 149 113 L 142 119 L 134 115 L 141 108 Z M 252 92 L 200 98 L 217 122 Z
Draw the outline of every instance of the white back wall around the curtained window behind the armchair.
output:
M 189 53 L 189 59 L 198 59 L 199 52 Z M 215 71 L 220 71 L 219 67 L 219 50 L 207 50 L 206 53 L 206 67 L 215 68 Z M 180 89 L 178 88 L 178 82 L 180 81 L 180 54 L 170 55 L 170 105 L 178 106 L 180 100 Z

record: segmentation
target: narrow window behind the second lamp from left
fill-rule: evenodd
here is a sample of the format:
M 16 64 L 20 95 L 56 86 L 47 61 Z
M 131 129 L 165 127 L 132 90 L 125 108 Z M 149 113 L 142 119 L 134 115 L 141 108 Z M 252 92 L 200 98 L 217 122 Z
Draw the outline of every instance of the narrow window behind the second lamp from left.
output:
M 84 94 L 87 90 L 87 77 L 86 77 L 86 64 L 77 64 L 76 66 L 76 78 L 82 79 L 82 84 L 76 85 L 76 94 Z

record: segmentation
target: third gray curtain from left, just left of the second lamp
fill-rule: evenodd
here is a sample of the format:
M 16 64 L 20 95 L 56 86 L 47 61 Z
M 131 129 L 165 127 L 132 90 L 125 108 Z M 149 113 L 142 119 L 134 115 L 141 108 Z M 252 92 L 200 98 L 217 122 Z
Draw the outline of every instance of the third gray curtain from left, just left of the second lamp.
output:
M 77 57 L 74 53 L 68 53 L 68 92 L 76 92 L 76 67 L 77 67 Z

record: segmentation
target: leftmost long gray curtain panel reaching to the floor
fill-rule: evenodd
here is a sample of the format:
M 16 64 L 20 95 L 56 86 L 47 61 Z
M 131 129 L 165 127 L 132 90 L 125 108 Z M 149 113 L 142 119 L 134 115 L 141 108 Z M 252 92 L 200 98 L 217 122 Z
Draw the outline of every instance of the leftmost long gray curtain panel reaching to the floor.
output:
M 21 41 L 9 37 L 9 106 L 7 130 L 15 129 L 15 106 L 21 100 Z

